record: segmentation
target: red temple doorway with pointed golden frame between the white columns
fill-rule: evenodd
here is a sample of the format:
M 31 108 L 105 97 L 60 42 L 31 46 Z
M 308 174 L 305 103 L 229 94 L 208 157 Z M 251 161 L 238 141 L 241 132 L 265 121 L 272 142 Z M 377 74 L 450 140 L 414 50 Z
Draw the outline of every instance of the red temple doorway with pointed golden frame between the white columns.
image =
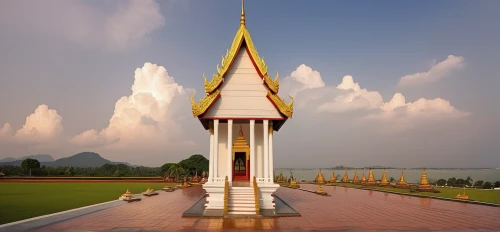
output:
M 245 140 L 242 128 L 233 144 L 233 180 L 250 180 L 250 146 Z

